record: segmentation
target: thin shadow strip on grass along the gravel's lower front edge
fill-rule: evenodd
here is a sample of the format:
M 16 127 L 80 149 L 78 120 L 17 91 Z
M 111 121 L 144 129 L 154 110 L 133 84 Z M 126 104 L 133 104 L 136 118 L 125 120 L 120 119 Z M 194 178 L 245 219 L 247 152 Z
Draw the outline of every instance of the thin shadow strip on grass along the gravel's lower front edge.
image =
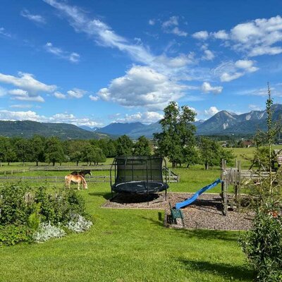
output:
M 219 231 L 219 230 L 185 230 L 174 229 L 176 235 L 187 238 L 197 238 L 204 240 L 224 240 L 230 242 L 238 242 L 240 233 L 238 231 Z

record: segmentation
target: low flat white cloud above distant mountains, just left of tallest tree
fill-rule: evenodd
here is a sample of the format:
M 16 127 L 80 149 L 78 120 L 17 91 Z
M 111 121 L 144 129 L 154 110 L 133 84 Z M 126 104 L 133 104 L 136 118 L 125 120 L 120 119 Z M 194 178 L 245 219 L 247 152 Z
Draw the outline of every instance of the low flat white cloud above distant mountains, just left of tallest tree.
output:
M 119 123 L 133 123 L 140 121 L 141 123 L 156 123 L 161 118 L 164 118 L 163 114 L 159 114 L 157 111 L 145 111 L 144 113 L 125 114 L 123 118 L 117 118 L 116 122 Z

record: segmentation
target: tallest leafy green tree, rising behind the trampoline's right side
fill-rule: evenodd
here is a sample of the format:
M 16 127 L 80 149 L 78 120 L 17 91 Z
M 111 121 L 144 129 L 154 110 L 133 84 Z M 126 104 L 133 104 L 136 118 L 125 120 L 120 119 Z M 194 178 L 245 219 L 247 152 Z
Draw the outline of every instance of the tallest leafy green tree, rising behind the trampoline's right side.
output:
M 189 150 L 185 148 L 195 147 L 196 127 L 192 124 L 195 116 L 195 111 L 188 106 L 180 108 L 176 102 L 170 102 L 164 109 L 164 118 L 160 121 L 162 132 L 154 133 L 155 153 L 168 157 L 173 168 L 188 161 Z

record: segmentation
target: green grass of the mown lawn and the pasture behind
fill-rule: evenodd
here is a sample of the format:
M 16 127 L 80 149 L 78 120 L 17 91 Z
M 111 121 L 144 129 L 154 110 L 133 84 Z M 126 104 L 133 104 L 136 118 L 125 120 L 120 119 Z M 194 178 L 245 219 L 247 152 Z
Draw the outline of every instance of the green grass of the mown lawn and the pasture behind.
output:
M 220 176 L 219 168 L 204 171 L 202 166 L 173 171 L 180 183 L 171 183 L 168 192 L 194 192 Z M 109 171 L 94 171 L 105 173 Z M 66 171 L 22 174 L 64 176 Z M 92 214 L 90 231 L 1 247 L 0 281 L 252 281 L 238 245 L 240 233 L 164 228 L 164 211 L 104 209 L 111 197 L 109 183 L 88 187 L 80 193 Z

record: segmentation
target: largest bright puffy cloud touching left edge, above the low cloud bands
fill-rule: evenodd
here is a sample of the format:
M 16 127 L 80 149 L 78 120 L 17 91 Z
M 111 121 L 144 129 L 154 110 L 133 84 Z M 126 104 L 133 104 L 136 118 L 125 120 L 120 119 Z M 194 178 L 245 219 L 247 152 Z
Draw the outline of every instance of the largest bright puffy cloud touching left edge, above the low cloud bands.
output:
M 47 85 L 39 82 L 30 73 L 18 73 L 18 77 L 13 75 L 5 75 L 0 73 L 0 82 L 19 87 L 21 90 L 26 90 L 29 96 L 37 96 L 38 92 L 54 92 L 56 85 Z

